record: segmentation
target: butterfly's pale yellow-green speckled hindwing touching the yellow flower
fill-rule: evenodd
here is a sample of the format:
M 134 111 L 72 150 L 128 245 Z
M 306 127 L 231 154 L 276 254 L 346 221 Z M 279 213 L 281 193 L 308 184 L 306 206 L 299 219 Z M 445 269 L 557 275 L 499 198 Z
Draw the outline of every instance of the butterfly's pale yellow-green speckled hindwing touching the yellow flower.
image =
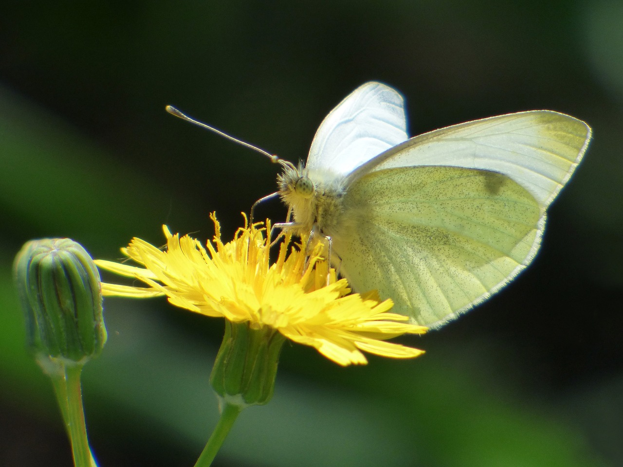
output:
M 376 171 L 349 187 L 333 248 L 354 290 L 378 289 L 397 313 L 434 326 L 518 274 L 544 211 L 510 178 L 459 167 Z

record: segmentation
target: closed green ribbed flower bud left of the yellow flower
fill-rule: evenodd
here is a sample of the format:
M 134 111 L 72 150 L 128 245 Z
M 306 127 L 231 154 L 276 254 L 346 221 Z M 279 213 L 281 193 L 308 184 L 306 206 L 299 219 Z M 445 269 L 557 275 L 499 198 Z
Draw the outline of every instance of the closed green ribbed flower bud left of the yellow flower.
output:
M 107 334 L 100 275 L 80 244 L 69 238 L 27 242 L 17 253 L 14 273 L 27 344 L 44 370 L 54 359 L 84 364 L 102 351 Z

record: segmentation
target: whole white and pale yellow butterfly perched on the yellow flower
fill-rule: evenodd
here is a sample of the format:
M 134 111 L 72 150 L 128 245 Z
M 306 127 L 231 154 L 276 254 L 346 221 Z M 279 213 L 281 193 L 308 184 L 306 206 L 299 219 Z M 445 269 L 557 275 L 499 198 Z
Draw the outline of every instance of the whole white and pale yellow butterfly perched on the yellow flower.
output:
M 326 116 L 306 166 L 284 164 L 279 193 L 290 227 L 330 238 L 354 291 L 440 326 L 530 264 L 590 138 L 583 121 L 535 110 L 408 139 L 401 95 L 369 82 Z

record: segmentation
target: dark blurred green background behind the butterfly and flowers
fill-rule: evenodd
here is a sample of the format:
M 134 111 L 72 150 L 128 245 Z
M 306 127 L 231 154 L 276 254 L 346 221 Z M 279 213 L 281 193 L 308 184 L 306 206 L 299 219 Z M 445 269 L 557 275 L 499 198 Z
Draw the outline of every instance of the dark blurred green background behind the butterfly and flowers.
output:
M 341 98 L 400 90 L 412 134 L 547 108 L 594 141 L 533 265 L 414 361 L 342 369 L 286 345 L 272 402 L 219 466 L 623 465 L 623 3 L 4 2 L 0 15 L 0 465 L 70 465 L 49 381 L 24 351 L 11 262 L 36 237 L 115 259 L 161 224 L 224 238 L 277 166 L 166 104 L 297 161 Z M 283 219 L 277 202 L 260 217 Z M 191 466 L 216 423 L 222 322 L 106 300 L 84 371 L 100 465 Z

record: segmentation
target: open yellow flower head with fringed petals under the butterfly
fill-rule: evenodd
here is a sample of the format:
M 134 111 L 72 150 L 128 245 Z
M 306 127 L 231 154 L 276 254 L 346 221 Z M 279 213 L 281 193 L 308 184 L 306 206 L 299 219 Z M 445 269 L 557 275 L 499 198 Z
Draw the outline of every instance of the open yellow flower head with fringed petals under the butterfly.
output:
M 277 261 L 270 264 L 269 222 L 266 229 L 245 226 L 232 242 L 222 243 L 219 223 L 214 214 L 211 218 L 216 234 L 213 242 L 207 242 L 207 250 L 194 238 L 172 235 L 163 226 L 166 250 L 140 238 L 133 238 L 121 250 L 144 267 L 96 261 L 102 269 L 146 284 L 102 283 L 103 295 L 166 295 L 172 304 L 196 313 L 246 322 L 252 329 L 275 329 L 343 366 L 366 364 L 361 351 L 393 358 L 423 353 L 384 340 L 406 333 L 423 334 L 426 328 L 407 323 L 401 314 L 388 313 L 391 300 L 381 302 L 376 293 L 350 294 L 346 280 L 336 280 L 335 270 L 328 271 L 319 248 L 307 257 L 300 245 L 289 246 L 286 235 Z

